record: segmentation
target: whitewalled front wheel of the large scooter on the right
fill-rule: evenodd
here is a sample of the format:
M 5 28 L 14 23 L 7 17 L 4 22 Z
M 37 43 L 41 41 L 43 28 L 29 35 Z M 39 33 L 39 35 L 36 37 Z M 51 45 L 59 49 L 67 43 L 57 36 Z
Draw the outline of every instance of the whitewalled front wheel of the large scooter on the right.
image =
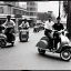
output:
M 63 51 L 61 51 L 60 53 L 60 58 L 64 61 L 69 61 L 71 59 L 71 53 L 69 49 L 65 49 Z

